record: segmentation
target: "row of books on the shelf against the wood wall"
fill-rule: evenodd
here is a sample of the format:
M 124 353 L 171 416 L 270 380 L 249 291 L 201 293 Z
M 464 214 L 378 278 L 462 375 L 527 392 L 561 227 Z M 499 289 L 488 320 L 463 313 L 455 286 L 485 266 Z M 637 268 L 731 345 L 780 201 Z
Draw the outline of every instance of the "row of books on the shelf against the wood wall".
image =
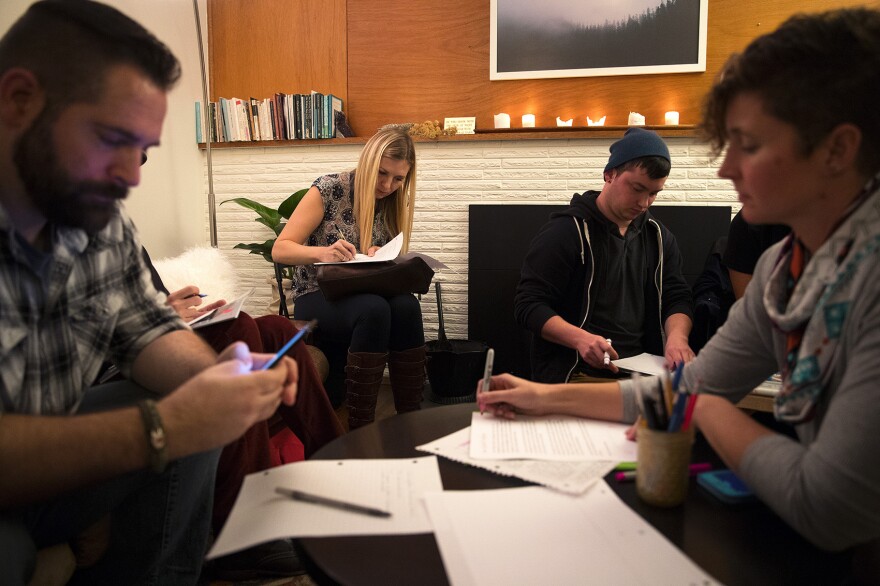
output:
M 220 98 L 208 104 L 211 142 L 334 138 L 342 100 L 333 94 L 277 93 L 265 99 Z M 205 141 L 202 103 L 196 102 L 196 142 Z

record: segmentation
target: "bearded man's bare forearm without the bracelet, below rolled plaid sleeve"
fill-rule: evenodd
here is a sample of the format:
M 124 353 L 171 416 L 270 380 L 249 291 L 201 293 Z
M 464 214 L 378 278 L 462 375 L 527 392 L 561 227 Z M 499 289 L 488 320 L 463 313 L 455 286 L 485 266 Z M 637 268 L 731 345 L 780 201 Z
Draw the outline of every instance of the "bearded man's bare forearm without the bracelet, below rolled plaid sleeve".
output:
M 134 381 L 167 394 L 217 361 L 217 354 L 197 334 L 176 330 L 153 340 L 134 362 Z

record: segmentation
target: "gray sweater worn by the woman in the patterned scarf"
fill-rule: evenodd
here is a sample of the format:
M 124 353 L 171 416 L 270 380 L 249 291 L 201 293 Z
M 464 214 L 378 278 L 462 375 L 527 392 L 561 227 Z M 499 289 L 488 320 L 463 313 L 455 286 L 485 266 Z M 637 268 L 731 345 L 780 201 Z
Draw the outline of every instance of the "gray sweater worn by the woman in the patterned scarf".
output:
M 782 370 L 785 336 L 764 310 L 763 291 L 781 243 L 768 249 L 743 298 L 684 371 L 701 392 L 739 401 Z M 880 273 L 880 258 L 869 262 Z M 880 539 L 880 278 L 859 291 L 837 346 L 816 416 L 796 426 L 799 441 L 755 441 L 739 475 L 789 525 L 817 546 L 841 550 Z M 624 415 L 635 419 L 631 385 Z

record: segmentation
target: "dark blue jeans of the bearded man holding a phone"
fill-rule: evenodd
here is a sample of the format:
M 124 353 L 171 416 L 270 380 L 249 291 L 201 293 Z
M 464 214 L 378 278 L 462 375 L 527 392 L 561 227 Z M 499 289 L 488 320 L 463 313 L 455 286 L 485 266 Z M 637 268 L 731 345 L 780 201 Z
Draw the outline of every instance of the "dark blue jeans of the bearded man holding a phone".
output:
M 130 382 L 101 385 L 86 393 L 80 413 L 149 396 Z M 109 549 L 97 564 L 78 570 L 72 584 L 196 584 L 210 539 L 219 455 L 195 454 L 162 474 L 138 470 L 0 512 L 0 582 L 26 584 L 38 549 L 69 541 L 109 513 Z

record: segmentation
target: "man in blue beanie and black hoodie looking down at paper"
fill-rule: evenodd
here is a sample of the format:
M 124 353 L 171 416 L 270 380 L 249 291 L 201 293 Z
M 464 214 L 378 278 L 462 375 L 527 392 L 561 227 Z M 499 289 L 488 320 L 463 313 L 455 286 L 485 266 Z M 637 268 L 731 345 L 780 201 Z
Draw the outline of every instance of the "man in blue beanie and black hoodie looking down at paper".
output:
M 602 191 L 576 193 L 532 241 L 514 314 L 533 334 L 533 380 L 617 378 L 611 360 L 642 352 L 669 367 L 694 357 L 681 253 L 648 211 L 670 167 L 662 138 L 630 128 L 611 145 Z

